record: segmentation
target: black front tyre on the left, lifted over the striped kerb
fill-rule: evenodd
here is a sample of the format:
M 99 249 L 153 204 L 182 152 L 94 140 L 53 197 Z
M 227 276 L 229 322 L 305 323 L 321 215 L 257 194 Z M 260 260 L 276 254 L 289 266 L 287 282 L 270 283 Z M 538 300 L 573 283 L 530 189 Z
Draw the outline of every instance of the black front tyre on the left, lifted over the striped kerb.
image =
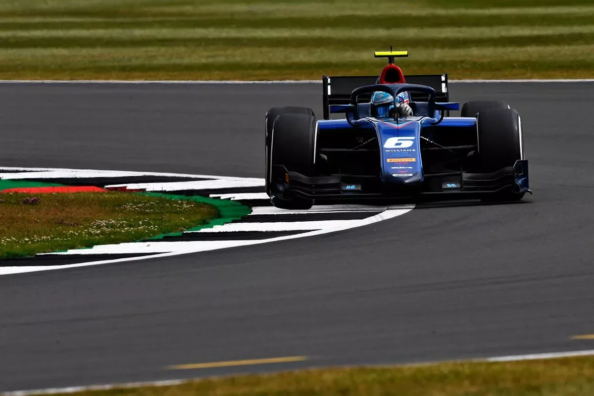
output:
M 270 164 L 282 165 L 287 170 L 305 176 L 315 176 L 315 140 L 318 121 L 305 114 L 283 114 L 273 123 L 270 136 Z M 271 170 L 268 170 L 271 173 Z M 268 180 L 270 183 L 271 180 Z M 288 193 L 288 194 L 287 194 Z M 273 194 L 272 194 L 273 195 Z M 289 196 L 287 196 L 289 195 Z M 283 192 L 282 199 L 273 199 L 276 207 L 285 209 L 309 209 L 314 204 L 311 199 L 290 196 Z

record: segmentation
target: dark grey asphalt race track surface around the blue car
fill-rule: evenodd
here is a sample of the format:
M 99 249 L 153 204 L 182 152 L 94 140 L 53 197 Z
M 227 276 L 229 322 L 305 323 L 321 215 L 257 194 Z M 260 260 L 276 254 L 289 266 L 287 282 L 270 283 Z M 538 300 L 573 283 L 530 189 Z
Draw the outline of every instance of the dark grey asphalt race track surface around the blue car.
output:
M 592 349 L 594 84 L 451 84 L 522 115 L 519 204 L 0 277 L 0 390 Z M 320 86 L 0 85 L 0 163 L 263 175 L 263 117 Z M 166 366 L 309 356 L 298 363 Z

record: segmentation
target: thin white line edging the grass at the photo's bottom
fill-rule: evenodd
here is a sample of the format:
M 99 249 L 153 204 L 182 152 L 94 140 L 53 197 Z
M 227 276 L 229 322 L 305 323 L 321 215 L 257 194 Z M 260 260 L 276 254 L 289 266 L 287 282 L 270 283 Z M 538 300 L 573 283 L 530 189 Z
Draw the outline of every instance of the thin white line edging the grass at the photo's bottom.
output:
M 594 350 L 584 351 L 568 351 L 568 352 L 554 352 L 554 353 L 537 353 L 517 356 L 495 356 L 486 357 L 484 359 L 471 360 L 454 360 L 456 363 L 460 362 L 514 362 L 519 360 L 539 360 L 539 359 L 555 359 L 559 357 L 575 357 L 575 356 L 594 356 Z M 446 361 L 447 362 L 447 361 Z M 430 362 L 429 364 L 439 364 L 444 362 Z M 415 363 L 415 365 L 417 365 Z M 396 365 L 397 366 L 397 365 Z M 171 379 L 166 381 L 153 382 L 129 382 L 124 384 L 108 384 L 108 385 L 90 385 L 88 387 L 67 387 L 67 388 L 48 388 L 48 389 L 33 389 L 27 391 L 12 391 L 4 392 L 4 396 L 31 396 L 31 395 L 50 395 L 56 393 L 75 393 L 86 391 L 102 391 L 116 388 L 138 388 L 138 387 L 168 387 L 173 385 L 181 385 L 190 381 L 195 381 L 194 378 L 187 379 Z

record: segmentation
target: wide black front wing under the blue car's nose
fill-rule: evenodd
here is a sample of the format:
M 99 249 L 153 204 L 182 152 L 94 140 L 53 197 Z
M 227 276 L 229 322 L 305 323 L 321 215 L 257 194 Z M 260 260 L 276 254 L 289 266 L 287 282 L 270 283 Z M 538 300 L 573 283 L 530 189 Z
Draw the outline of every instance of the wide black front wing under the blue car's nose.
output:
M 281 199 L 306 198 L 320 201 L 479 199 L 511 192 L 532 192 L 528 183 L 528 161 L 494 173 L 447 172 L 424 175 L 415 185 L 394 186 L 377 176 L 304 176 L 283 166 L 273 167 L 272 193 Z

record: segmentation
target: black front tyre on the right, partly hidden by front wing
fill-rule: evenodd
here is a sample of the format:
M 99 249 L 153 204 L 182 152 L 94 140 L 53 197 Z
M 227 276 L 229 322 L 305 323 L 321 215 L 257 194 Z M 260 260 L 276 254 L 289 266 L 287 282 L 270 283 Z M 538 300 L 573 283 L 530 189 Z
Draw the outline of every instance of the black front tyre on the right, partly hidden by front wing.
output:
M 494 109 L 478 113 L 478 164 L 483 173 L 513 167 L 524 158 L 522 120 L 516 110 Z M 510 191 L 492 195 L 483 201 L 519 201 L 524 194 Z

